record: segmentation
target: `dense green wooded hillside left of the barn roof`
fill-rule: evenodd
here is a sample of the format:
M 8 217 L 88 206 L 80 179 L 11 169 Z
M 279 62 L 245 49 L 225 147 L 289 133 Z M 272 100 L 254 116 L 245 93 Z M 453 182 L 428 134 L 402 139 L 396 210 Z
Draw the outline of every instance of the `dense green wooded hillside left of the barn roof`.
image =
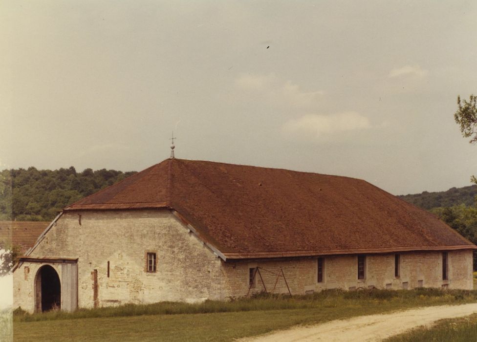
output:
M 0 172 L 0 220 L 49 221 L 69 204 L 132 174 L 74 167 L 37 170 L 34 167 Z

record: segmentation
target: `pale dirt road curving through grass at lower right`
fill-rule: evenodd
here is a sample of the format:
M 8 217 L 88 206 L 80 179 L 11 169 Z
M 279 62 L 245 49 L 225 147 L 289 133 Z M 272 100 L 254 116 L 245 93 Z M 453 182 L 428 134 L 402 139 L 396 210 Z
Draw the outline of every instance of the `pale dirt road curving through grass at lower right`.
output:
M 356 342 L 381 341 L 420 325 L 431 325 L 445 318 L 477 313 L 477 303 L 433 306 L 390 314 L 355 317 L 323 324 L 296 327 L 241 342 Z

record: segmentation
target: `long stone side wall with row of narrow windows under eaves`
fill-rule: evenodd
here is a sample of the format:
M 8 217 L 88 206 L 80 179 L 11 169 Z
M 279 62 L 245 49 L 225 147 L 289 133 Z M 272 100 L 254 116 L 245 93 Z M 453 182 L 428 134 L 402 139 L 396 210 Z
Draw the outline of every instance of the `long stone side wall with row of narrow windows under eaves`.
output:
M 341 288 L 412 289 L 416 287 L 473 288 L 472 251 L 448 252 L 448 280 L 442 279 L 441 252 L 400 253 L 399 277 L 394 254 L 366 256 L 365 279 L 358 279 L 358 257 L 324 256 L 323 282 L 318 282 L 316 257 L 223 263 L 225 296 L 240 297 L 264 291 L 293 295 Z M 255 287 L 249 290 L 250 268 L 258 267 Z M 261 276 L 261 277 L 260 277 Z M 283 277 L 284 276 L 284 277 Z M 286 279 L 286 282 L 285 282 Z

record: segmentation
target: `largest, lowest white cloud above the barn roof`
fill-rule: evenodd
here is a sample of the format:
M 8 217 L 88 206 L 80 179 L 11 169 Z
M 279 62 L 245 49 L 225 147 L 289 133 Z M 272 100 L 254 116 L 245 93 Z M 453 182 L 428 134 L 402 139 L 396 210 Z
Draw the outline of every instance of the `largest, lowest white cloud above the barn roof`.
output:
M 299 133 L 312 137 L 367 128 L 371 128 L 369 119 L 353 111 L 331 115 L 306 114 L 299 119 L 287 121 L 282 127 L 285 133 Z

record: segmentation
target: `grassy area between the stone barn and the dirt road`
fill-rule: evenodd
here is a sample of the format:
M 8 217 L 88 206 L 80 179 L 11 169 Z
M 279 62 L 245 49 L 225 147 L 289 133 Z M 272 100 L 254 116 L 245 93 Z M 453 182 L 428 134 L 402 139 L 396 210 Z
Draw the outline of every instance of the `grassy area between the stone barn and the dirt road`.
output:
M 477 301 L 477 291 L 324 291 L 201 304 L 157 303 L 14 316 L 14 341 L 231 341 L 311 324 L 417 306 Z

